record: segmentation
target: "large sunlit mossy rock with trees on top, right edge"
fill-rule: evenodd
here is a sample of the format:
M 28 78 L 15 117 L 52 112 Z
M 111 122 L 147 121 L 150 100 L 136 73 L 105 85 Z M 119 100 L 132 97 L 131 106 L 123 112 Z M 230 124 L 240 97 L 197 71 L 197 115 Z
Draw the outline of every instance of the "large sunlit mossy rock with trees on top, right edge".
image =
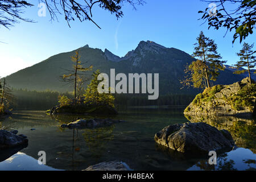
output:
M 249 78 L 231 85 L 215 85 L 197 94 L 184 110 L 185 115 L 241 115 L 256 114 L 256 85 Z

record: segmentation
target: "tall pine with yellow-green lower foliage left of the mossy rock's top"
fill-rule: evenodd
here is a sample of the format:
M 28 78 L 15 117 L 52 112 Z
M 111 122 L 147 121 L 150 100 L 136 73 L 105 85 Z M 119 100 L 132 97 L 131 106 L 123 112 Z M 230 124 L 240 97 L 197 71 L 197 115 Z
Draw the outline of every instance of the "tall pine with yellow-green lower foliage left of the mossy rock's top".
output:
M 222 57 L 217 52 L 217 44 L 214 40 L 207 38 L 203 31 L 196 40 L 192 57 L 197 60 L 185 68 L 185 79 L 181 81 L 181 84 L 194 88 L 210 88 L 212 86 L 210 80 L 217 80 L 220 74 L 218 71 L 225 69 L 223 64 L 226 61 L 220 60 Z

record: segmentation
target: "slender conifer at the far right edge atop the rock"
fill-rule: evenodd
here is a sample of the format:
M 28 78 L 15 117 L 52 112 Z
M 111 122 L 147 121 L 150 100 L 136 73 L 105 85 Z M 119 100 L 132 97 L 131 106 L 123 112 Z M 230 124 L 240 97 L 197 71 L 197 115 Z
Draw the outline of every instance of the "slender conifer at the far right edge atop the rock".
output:
M 237 68 L 237 71 L 234 72 L 235 74 L 241 74 L 248 72 L 249 79 L 250 79 L 250 85 L 251 85 L 251 68 L 255 68 L 256 66 L 256 57 L 254 54 L 256 51 L 253 51 L 254 44 L 248 44 L 243 43 L 243 48 L 240 50 L 240 52 L 237 53 L 237 56 L 240 57 L 240 61 L 237 61 L 237 64 L 234 66 Z M 242 67 L 247 67 L 246 69 L 239 70 Z M 254 72 L 255 73 L 255 72 Z

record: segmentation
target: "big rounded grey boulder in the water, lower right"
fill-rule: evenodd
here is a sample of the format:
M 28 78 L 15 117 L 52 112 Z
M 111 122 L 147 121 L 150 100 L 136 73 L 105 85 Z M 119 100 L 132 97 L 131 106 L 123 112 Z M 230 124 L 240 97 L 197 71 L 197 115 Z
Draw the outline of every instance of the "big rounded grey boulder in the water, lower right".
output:
M 192 155 L 228 151 L 234 146 L 234 140 L 228 131 L 217 130 L 203 122 L 167 126 L 155 134 L 155 142 Z

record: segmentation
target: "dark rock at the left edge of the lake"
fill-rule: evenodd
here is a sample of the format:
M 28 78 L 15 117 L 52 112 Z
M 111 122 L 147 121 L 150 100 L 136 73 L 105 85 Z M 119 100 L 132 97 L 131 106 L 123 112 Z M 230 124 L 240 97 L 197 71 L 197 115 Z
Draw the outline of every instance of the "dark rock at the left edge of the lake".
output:
M 6 130 L 0 130 L 0 148 L 8 148 L 28 143 L 28 139 Z

